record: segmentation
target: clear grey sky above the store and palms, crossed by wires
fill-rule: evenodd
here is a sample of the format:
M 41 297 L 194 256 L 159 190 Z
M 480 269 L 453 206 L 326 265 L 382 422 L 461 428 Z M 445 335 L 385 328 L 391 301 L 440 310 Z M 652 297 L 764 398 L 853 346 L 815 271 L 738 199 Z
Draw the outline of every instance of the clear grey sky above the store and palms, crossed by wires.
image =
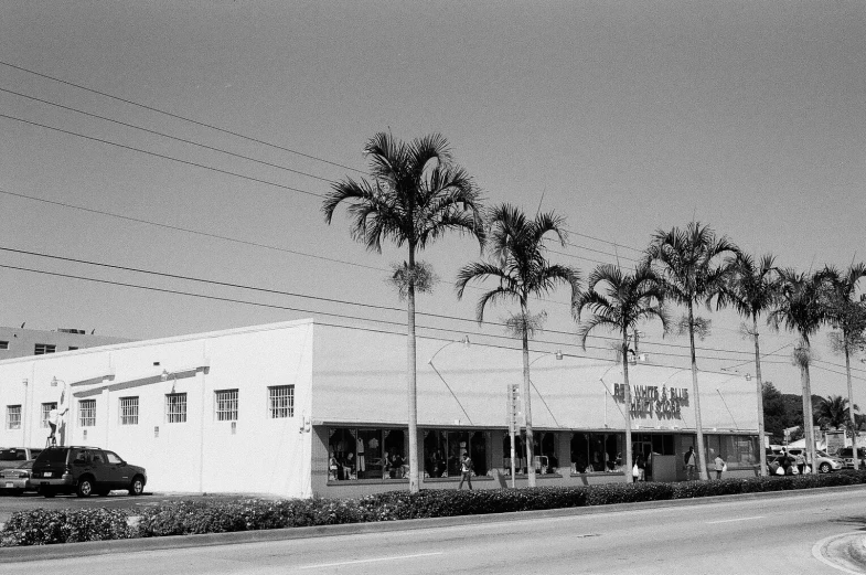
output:
M 404 330 L 386 281 L 404 251 L 370 253 L 345 211 L 331 225 L 321 212 L 331 182 L 363 175 L 378 131 L 442 134 L 488 204 L 564 215 L 569 244 L 549 257 L 584 277 L 633 266 L 654 232 L 693 220 L 784 267 L 866 259 L 859 1 L 0 10 L 3 326 L 147 339 L 313 317 Z M 456 298 L 457 271 L 481 257 L 460 235 L 421 254 L 440 281 L 419 299 L 419 334 L 518 347 L 499 324 L 513 308 L 478 326 L 481 289 Z M 612 356 L 603 338 L 577 344 L 565 290 L 533 309 L 547 312 L 534 361 Z M 753 374 L 741 320 L 703 315 L 699 369 Z M 687 366 L 686 337 L 642 330 L 651 362 Z M 765 379 L 799 393 L 795 337 L 762 326 L 761 340 Z M 826 341 L 813 392 L 847 395 Z M 866 365 L 854 368 L 863 390 Z

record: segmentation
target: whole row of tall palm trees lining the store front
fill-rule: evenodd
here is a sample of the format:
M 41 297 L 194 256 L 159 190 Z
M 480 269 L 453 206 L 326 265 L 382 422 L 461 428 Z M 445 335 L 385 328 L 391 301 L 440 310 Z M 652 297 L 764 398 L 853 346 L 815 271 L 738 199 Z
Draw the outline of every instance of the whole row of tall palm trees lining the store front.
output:
M 718 236 L 708 225 L 689 222 L 683 227 L 653 233 L 634 269 L 602 264 L 585 279 L 576 267 L 550 262 L 547 257 L 547 239 L 566 245 L 565 217 L 555 211 L 527 216 L 521 207 L 507 203 L 488 205 L 474 180 L 455 162 L 450 146 L 441 135 L 406 142 L 389 132 L 379 132 L 367 141 L 364 155 L 370 175 L 346 177 L 334 183 L 322 203 L 322 212 L 330 224 L 336 209 L 344 205 L 352 238 L 370 251 L 381 253 L 383 241 L 407 249 L 407 259 L 393 265 L 391 279 L 407 302 L 410 492 L 419 489 L 415 301 L 417 294 L 430 291 L 436 283 L 431 266 L 417 256 L 447 232 L 469 235 L 482 249 L 481 259 L 466 264 L 455 281 L 458 299 L 464 296 L 470 284 L 487 288 L 475 307 L 479 323 L 483 322 L 488 307 L 513 306 L 506 328 L 521 341 L 523 352 L 524 445 L 530 461 L 530 487 L 535 487 L 535 468 L 532 465 L 528 341 L 546 318 L 544 310 L 531 308 L 560 287 L 570 292 L 577 336 L 585 349 L 587 338 L 597 329 L 618 334 L 626 405 L 631 405 L 629 343 L 637 327 L 641 322 L 659 321 L 665 331 L 676 330 L 688 336 L 697 451 L 702 457 L 706 450 L 695 338 L 703 339 L 709 331 L 709 320 L 698 315 L 702 307 L 708 310 L 729 307 L 751 321 L 749 334 L 755 345 L 759 445 L 763 445 L 765 436 L 759 320 L 772 329 L 785 329 L 798 336 L 793 359 L 801 373 L 803 413 L 812 412 L 811 339 L 824 326 L 834 328 L 835 349 L 845 355 L 848 397 L 852 396 L 851 355 L 863 350 L 866 331 L 866 300 L 855 299 L 857 281 L 866 276 L 864 264 L 852 265 L 846 270 L 825 266 L 814 273 L 782 268 L 776 265 L 772 255 L 756 258 L 744 253 L 727 236 Z M 682 310 L 682 316 L 673 318 L 672 308 Z M 853 405 L 849 417 L 854 422 Z M 804 426 L 804 430 L 809 457 L 814 460 L 812 426 Z M 630 466 L 631 417 L 628 413 L 626 451 Z M 766 473 L 765 452 L 763 449 L 759 451 L 761 473 Z M 706 466 L 701 465 L 698 469 L 701 478 L 707 479 Z M 630 480 L 626 477 L 626 481 Z

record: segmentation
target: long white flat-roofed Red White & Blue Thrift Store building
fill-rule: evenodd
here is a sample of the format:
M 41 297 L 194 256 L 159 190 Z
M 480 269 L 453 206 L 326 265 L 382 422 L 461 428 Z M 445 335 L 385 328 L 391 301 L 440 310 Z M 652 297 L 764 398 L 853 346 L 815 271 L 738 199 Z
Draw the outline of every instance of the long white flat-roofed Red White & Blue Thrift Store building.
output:
M 0 445 L 42 446 L 68 409 L 64 445 L 111 449 L 148 469 L 148 490 L 356 497 L 405 489 L 406 339 L 312 320 L 0 361 Z M 421 487 L 453 489 L 469 452 L 478 488 L 510 485 L 509 384 L 521 352 L 419 338 Z M 652 479 L 683 479 L 695 445 L 691 372 L 629 370 L 633 445 Z M 538 485 L 622 481 L 624 390 L 613 362 L 532 354 Z M 707 461 L 757 473 L 755 385 L 701 373 Z M 521 438 L 515 440 L 517 454 Z M 517 456 L 520 457 L 520 456 Z M 515 459 L 516 485 L 526 461 Z

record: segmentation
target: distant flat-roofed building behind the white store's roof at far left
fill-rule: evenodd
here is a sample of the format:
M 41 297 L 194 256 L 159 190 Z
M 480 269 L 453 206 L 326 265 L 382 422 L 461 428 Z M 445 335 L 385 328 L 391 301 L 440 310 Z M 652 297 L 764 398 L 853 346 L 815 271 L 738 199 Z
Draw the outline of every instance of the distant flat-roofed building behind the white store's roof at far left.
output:
M 60 353 L 128 341 L 132 340 L 94 336 L 83 329 L 58 328 L 54 331 L 45 331 L 0 327 L 0 360 Z

